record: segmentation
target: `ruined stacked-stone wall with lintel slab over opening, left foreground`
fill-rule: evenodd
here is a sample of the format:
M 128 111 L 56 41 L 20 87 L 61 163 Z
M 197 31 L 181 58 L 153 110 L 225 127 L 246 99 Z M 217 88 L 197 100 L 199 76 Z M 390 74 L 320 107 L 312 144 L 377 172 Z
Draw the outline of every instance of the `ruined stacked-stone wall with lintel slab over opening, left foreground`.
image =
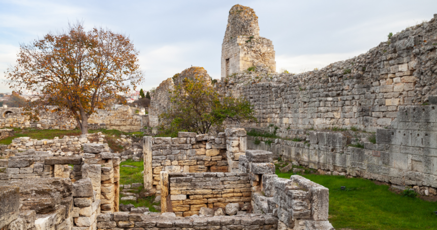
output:
M 76 157 L 54 156 L 49 152 L 35 150 L 12 156 L 7 159 L 8 165 L 4 173 L 0 173 L 0 185 L 18 183 L 22 192 L 23 186 L 33 181 L 65 179 L 65 183 L 68 182 L 70 187 L 72 186 L 69 188 L 72 193 L 69 199 L 73 206 L 67 207 L 69 213 L 66 214 L 72 218 L 68 222 L 69 226 L 96 229 L 99 213 L 118 211 L 120 158 L 110 153 L 107 145 L 99 143 L 85 143 L 83 151 L 83 155 Z M 69 164 L 73 164 L 73 167 Z M 28 187 L 32 187 L 32 183 Z M 42 197 L 35 197 L 35 202 L 39 202 L 40 199 L 44 200 Z M 37 207 L 34 203 L 28 206 Z M 38 209 L 43 209 L 44 212 L 36 210 L 37 214 L 47 212 L 44 206 Z

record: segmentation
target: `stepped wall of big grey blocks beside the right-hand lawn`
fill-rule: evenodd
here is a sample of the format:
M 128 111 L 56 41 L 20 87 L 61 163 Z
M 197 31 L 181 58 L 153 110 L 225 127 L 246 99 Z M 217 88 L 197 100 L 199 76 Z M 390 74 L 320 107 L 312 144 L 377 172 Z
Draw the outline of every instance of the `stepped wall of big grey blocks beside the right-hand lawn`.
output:
M 328 221 L 329 190 L 298 175 L 278 178 L 271 163 L 273 154 L 247 150 L 239 168 L 251 180 L 255 213 L 277 216 L 278 229 L 333 230 Z

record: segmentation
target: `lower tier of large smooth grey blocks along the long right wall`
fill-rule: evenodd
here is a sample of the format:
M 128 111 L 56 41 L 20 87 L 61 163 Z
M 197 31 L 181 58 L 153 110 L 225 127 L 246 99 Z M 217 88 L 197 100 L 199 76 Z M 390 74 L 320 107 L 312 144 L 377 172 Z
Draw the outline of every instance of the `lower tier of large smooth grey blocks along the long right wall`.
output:
M 261 138 L 249 137 L 248 149 L 272 151 L 283 160 L 337 175 L 423 186 L 419 193 L 437 195 L 436 107 L 399 106 L 391 128 L 377 129 L 376 134 L 304 131 L 302 141 L 277 138 L 270 145 L 264 141 L 256 145 L 255 139 Z M 351 146 L 357 144 L 363 148 Z

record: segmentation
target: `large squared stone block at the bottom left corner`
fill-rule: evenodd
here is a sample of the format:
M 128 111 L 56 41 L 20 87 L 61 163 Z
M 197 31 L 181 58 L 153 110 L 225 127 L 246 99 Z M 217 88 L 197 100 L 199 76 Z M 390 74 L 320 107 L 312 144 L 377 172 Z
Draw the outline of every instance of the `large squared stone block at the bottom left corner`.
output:
M 19 212 L 19 188 L 0 186 L 0 229 L 17 219 Z

